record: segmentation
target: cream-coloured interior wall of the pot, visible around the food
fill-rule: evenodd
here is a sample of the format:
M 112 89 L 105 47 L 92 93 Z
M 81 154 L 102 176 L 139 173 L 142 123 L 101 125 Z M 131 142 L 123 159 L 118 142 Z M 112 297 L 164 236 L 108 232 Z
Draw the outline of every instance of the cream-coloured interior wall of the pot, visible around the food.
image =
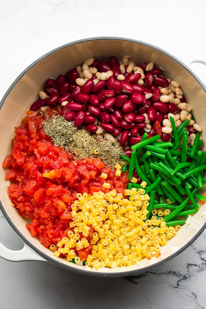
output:
M 90 40 L 72 44 L 55 51 L 51 55 L 44 57 L 42 60 L 32 66 L 20 80 L 15 84 L 13 89 L 5 99 L 5 102 L 0 111 L 0 162 L 9 153 L 11 149 L 11 137 L 14 135 L 14 126 L 20 123 L 20 119 L 31 105 L 37 99 L 38 92 L 44 88 L 44 82 L 47 78 L 56 78 L 59 74 L 66 73 L 69 69 L 82 65 L 83 61 L 88 57 L 95 57 L 95 59 L 108 59 L 110 56 L 116 56 L 118 60 L 124 55 L 132 56 L 132 60 L 137 64 L 141 62 L 153 61 L 155 66 L 161 66 L 166 70 L 164 76 L 171 80 L 176 80 L 186 96 L 187 103 L 193 107 L 193 114 L 196 122 L 203 128 L 202 137 L 206 139 L 206 125 L 205 114 L 205 91 L 193 75 L 181 66 L 177 61 L 170 58 L 161 51 L 149 47 L 147 45 L 127 41 L 127 40 Z M 39 240 L 32 237 L 25 227 L 25 221 L 21 218 L 8 199 L 7 188 L 5 187 L 6 171 L 1 167 L 0 178 L 0 195 L 2 205 L 8 218 L 13 222 L 19 233 L 49 258 L 49 260 L 61 261 L 62 265 L 70 265 L 74 268 L 81 269 L 80 266 L 66 262 L 65 260 L 53 257 L 53 253 L 44 248 Z M 118 273 L 128 270 L 141 269 L 166 259 L 174 252 L 185 246 L 204 225 L 206 218 L 201 217 L 200 214 L 206 209 L 206 205 L 202 207 L 197 214 L 192 217 L 190 225 L 185 224 L 178 232 L 178 235 L 171 239 L 169 243 L 161 249 L 161 256 L 157 259 L 143 260 L 139 265 L 132 267 L 118 268 L 118 269 L 100 269 L 96 272 Z M 84 267 L 82 269 L 85 269 Z M 92 270 L 94 271 L 94 270 Z

